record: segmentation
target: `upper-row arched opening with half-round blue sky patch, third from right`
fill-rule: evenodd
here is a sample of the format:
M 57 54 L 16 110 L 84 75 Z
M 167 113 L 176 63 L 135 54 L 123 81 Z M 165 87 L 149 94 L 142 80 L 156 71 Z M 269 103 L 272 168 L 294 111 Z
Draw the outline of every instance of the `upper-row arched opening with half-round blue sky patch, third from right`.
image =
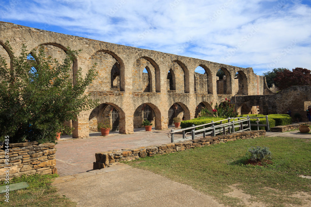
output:
M 211 71 L 205 65 L 199 65 L 194 70 L 194 92 L 213 93 Z

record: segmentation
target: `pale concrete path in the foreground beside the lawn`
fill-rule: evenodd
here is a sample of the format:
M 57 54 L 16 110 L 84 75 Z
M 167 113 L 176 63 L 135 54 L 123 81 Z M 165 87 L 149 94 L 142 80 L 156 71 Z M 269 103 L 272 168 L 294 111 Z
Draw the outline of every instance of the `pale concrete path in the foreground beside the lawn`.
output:
M 117 169 L 109 173 L 58 183 L 55 186 L 61 196 L 65 195 L 81 207 L 224 206 L 211 199 L 211 196 L 195 191 L 187 185 L 136 168 Z

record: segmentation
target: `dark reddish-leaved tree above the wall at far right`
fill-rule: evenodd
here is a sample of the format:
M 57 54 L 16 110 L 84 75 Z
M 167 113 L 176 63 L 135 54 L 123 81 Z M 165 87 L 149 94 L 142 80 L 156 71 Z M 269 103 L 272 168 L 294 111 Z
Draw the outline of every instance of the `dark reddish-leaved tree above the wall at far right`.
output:
M 311 71 L 306 68 L 295 68 L 293 71 L 285 69 L 283 72 L 276 72 L 273 80 L 280 90 L 291 86 L 308 86 L 311 85 Z

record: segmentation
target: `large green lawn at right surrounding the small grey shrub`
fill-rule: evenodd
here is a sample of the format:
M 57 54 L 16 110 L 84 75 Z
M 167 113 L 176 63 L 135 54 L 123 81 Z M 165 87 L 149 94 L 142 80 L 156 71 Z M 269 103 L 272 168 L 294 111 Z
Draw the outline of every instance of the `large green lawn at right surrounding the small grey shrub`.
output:
M 273 164 L 244 165 L 251 146 L 269 147 Z M 127 164 L 190 185 L 229 206 L 245 206 L 241 199 L 225 195 L 232 191 L 232 185 L 251 195 L 249 201 L 267 206 L 301 205 L 302 200 L 292 195 L 311 195 L 311 179 L 299 178 L 311 176 L 310 140 L 260 137 L 146 157 Z

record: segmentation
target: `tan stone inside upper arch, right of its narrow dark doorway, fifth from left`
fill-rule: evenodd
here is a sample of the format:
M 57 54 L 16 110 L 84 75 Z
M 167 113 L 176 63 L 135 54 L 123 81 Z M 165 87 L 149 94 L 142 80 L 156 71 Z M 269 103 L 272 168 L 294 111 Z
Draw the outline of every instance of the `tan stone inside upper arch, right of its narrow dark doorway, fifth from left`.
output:
M 176 93 L 189 93 L 189 71 L 187 67 L 180 61 L 171 62 L 170 68 L 175 75 L 175 91 Z

